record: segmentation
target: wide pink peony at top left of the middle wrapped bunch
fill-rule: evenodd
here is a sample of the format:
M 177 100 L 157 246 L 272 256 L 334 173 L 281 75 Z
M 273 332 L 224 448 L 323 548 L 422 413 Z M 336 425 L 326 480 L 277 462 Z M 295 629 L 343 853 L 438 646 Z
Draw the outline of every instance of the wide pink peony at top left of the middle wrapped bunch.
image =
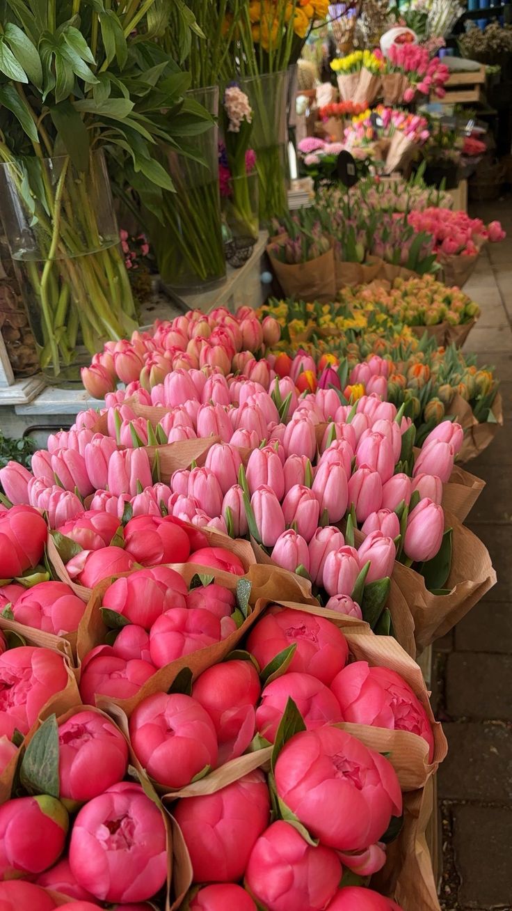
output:
M 105 591 L 102 606 L 150 630 L 166 610 L 186 607 L 186 584 L 169 567 L 137 569 L 115 579 Z

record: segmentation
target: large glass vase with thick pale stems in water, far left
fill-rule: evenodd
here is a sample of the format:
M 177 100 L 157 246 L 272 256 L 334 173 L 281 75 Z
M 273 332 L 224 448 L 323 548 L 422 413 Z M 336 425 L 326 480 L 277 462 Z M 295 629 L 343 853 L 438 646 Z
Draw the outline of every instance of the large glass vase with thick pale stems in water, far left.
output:
M 5 162 L 0 217 L 41 369 L 79 380 L 80 361 L 136 328 L 103 152 L 86 171 L 65 155 Z

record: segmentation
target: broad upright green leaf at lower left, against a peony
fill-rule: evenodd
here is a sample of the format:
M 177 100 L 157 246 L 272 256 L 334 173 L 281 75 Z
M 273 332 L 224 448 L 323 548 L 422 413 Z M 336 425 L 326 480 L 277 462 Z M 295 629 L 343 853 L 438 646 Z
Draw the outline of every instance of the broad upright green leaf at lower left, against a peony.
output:
M 41 725 L 25 750 L 20 780 L 25 791 L 59 797 L 59 738 L 56 715 Z

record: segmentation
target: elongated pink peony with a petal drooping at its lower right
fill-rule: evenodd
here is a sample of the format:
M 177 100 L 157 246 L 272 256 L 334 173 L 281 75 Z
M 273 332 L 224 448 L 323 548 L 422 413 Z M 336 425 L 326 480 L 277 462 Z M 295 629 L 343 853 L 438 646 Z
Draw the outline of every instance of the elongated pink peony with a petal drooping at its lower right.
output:
M 232 660 L 214 664 L 204 670 L 194 683 L 193 698 L 214 722 L 219 765 L 241 756 L 252 741 L 256 702 L 260 693 L 259 677 L 252 661 Z

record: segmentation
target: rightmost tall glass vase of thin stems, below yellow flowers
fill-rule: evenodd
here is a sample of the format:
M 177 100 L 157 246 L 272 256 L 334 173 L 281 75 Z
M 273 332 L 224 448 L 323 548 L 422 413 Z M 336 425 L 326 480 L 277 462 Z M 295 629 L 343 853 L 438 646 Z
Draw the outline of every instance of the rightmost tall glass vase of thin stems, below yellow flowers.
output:
M 287 86 L 286 70 L 240 80 L 253 108 L 251 148 L 256 153 L 261 224 L 287 210 Z

